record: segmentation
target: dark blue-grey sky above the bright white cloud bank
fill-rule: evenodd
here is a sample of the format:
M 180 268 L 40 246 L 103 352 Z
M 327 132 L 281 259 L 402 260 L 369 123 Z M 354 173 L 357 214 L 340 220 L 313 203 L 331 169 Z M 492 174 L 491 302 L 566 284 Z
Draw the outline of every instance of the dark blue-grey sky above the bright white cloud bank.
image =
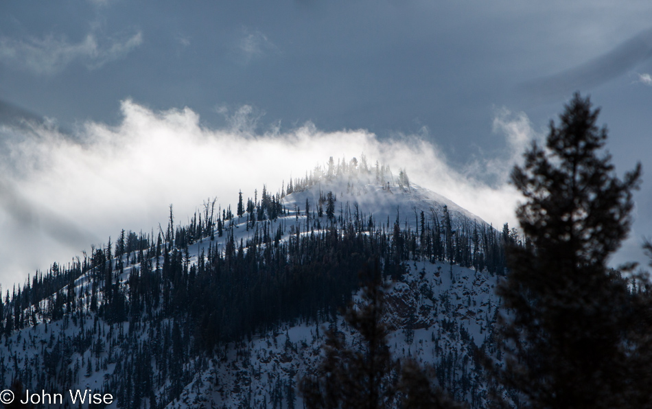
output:
M 581 91 L 618 169 L 647 171 L 651 22 L 649 1 L 5 1 L 0 100 L 76 137 L 121 124 L 126 99 L 187 106 L 211 129 L 246 105 L 258 133 L 416 134 L 465 167 L 502 157 L 504 109 L 545 132 Z M 652 234 L 644 186 L 638 237 Z

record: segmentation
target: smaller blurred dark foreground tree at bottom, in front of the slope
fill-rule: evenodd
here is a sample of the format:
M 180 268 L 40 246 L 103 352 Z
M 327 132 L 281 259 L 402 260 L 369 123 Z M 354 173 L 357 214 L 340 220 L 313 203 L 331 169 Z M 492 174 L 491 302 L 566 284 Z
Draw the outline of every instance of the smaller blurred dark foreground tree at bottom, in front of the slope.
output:
M 347 323 L 360 334 L 358 349 L 350 349 L 342 332 L 331 328 L 325 358 L 315 376 L 301 380 L 299 390 L 309 409 L 431 408 L 456 409 L 445 393 L 432 385 L 426 372 L 412 360 L 402 365 L 389 351 L 388 326 L 383 322 L 384 293 L 380 266 L 361 272 L 366 286 L 362 303 L 351 304 Z

